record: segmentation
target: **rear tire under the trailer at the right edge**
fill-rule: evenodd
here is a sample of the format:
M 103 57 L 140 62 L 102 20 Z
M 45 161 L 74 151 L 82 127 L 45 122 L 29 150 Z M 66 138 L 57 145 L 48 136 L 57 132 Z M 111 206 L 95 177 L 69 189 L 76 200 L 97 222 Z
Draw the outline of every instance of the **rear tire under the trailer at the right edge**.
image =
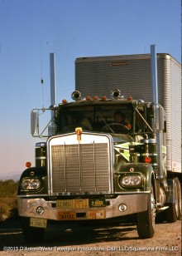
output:
M 174 190 L 175 202 L 167 204 L 169 208 L 165 210 L 165 218 L 170 223 L 175 222 L 177 219 L 181 219 L 181 189 L 178 178 L 174 179 Z

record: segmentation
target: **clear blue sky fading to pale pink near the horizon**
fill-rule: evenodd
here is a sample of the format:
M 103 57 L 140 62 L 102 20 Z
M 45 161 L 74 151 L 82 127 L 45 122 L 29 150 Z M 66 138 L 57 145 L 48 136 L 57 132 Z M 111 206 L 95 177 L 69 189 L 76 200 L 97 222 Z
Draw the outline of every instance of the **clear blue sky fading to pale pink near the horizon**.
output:
M 180 0 L 0 0 L 0 177 L 34 165 L 31 109 L 50 106 L 50 52 L 57 101 L 74 91 L 76 57 L 170 53 L 181 62 Z

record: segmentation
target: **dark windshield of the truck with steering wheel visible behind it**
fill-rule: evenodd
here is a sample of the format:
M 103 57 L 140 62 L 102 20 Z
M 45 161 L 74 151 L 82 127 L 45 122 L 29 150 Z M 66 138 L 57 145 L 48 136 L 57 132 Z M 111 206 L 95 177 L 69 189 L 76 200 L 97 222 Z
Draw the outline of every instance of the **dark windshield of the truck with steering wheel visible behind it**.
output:
M 133 108 L 126 106 L 74 106 L 60 108 L 58 132 L 73 132 L 76 127 L 83 130 L 109 133 L 132 132 Z

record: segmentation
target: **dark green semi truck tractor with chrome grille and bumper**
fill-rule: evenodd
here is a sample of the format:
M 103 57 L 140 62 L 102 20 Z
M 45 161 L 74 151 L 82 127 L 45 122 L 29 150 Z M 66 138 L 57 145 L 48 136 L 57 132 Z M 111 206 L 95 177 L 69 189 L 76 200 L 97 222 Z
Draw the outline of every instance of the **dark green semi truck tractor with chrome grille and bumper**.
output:
M 169 124 L 158 103 L 155 70 L 151 46 L 152 101 L 141 100 L 142 91 L 140 99 L 122 96 L 121 86 L 110 97 L 105 91 L 83 97 L 76 90 L 72 102 L 56 106 L 53 100 L 50 108 L 31 111 L 33 136 L 44 136 L 39 117 L 45 111 L 51 111 L 51 124 L 47 139 L 36 143 L 36 165 L 27 165 L 19 181 L 27 243 L 43 239 L 49 221 L 92 225 L 131 217 L 146 239 L 159 216 L 168 222 L 181 218 L 181 163 L 177 159 L 174 170 L 175 159 L 168 156 Z

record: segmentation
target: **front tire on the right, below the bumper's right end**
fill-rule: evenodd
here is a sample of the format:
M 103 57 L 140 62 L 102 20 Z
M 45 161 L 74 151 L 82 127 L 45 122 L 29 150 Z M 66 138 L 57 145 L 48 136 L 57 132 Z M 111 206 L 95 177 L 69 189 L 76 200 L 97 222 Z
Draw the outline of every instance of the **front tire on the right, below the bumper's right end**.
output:
M 151 239 L 154 235 L 154 226 L 156 219 L 156 208 L 153 188 L 147 195 L 147 210 L 137 214 L 136 224 L 137 233 L 141 239 Z

